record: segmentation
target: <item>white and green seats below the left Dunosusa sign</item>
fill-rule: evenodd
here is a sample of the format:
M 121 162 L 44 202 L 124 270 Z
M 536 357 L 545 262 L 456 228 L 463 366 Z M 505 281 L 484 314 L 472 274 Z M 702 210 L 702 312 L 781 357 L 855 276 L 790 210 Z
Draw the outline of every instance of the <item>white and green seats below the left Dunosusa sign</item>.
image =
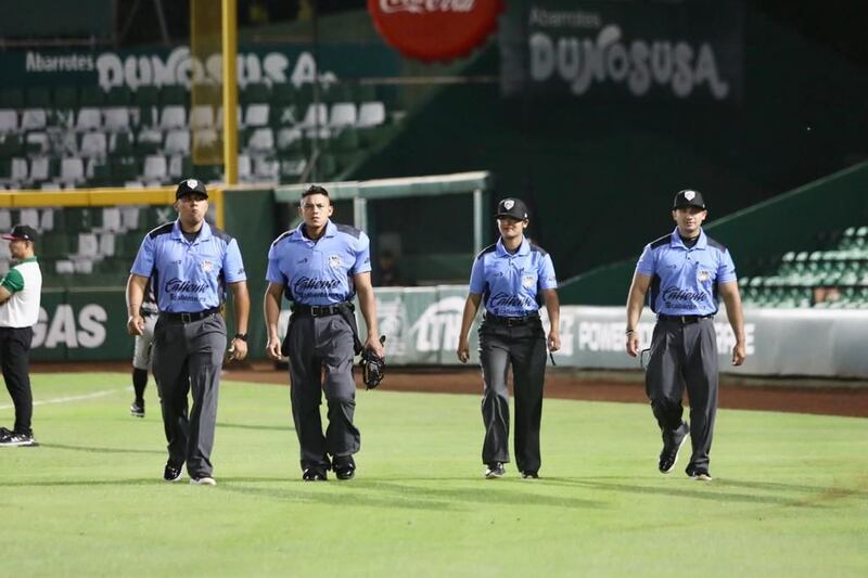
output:
M 369 86 L 321 87 L 318 102 L 309 85 L 247 85 L 239 97 L 242 182 L 297 182 L 312 158 L 321 180 L 337 178 L 400 116 Z M 177 86 L 4 88 L 0 188 L 161 185 L 193 174 L 218 181 L 222 167 L 193 167 L 192 152 L 222 150 L 222 110 L 190 102 Z

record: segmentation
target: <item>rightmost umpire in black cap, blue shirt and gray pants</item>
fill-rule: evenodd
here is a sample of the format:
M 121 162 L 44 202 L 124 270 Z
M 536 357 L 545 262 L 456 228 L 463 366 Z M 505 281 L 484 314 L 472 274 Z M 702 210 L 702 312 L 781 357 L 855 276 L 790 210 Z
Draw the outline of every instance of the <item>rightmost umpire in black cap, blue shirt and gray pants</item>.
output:
M 744 316 L 736 266 L 727 248 L 702 230 L 707 211 L 699 191 L 675 195 L 672 217 L 677 227 L 646 245 L 636 266 L 627 300 L 627 354 L 639 355 L 636 332 L 646 294 L 658 314 L 646 372 L 646 391 L 663 435 L 659 468 L 668 474 L 678 450 L 690 435 L 693 452 L 686 472 L 710 481 L 709 452 L 717 412 L 717 335 L 714 316 L 718 296 L 724 298 L 729 324 L 736 334 L 732 364 L 746 357 Z M 690 423 L 681 415 L 687 387 Z

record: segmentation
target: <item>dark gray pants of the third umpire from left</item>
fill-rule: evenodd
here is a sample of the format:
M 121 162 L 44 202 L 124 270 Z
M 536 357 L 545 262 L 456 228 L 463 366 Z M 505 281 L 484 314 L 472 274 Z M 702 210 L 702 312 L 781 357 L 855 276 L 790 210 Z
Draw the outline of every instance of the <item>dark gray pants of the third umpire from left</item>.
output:
M 546 376 L 546 334 L 537 320 L 506 326 L 483 321 L 480 327 L 480 362 L 485 384 L 482 419 L 485 440 L 483 463 L 509 462 L 509 390 L 512 367 L 515 394 L 515 463 L 520 472 L 537 472 L 539 428 L 542 421 L 542 384 Z

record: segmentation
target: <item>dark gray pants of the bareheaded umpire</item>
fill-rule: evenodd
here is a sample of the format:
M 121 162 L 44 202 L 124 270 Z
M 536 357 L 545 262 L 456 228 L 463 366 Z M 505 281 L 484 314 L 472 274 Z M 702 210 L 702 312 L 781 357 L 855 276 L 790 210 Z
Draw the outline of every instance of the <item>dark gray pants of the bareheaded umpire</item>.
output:
M 329 455 L 353 455 L 361 447 L 361 435 L 353 425 L 353 327 L 340 314 L 293 313 L 283 350 L 290 358 L 290 397 L 302 470 L 328 470 Z M 326 435 L 319 413 L 323 391 L 329 406 Z

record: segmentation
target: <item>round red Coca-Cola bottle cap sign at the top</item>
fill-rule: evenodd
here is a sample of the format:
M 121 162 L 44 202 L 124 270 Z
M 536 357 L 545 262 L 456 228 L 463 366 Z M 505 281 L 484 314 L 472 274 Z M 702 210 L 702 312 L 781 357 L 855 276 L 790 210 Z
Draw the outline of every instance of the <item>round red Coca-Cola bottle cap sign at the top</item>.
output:
M 482 44 L 502 9 L 502 0 L 368 0 L 386 42 L 427 62 L 463 56 Z

